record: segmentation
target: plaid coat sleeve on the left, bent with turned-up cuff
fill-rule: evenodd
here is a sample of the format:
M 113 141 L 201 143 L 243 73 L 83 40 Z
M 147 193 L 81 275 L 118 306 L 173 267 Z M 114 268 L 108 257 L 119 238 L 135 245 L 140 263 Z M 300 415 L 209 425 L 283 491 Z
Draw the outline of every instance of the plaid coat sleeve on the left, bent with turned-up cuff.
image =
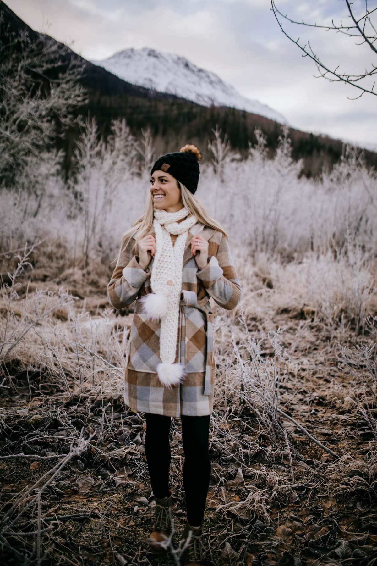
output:
M 150 277 L 150 269 L 142 269 L 133 255 L 131 242 L 119 254 L 111 280 L 107 285 L 107 301 L 114 308 L 124 308 L 135 301 L 142 284 Z

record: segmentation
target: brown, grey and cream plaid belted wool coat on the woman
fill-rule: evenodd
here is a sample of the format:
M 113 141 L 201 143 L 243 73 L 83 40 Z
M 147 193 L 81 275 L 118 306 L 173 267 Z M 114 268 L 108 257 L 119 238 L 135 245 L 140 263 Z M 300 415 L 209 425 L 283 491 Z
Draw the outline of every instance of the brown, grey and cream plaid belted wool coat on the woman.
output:
M 208 241 L 208 263 L 200 269 L 191 254 L 190 240 L 200 234 Z M 155 236 L 154 231 L 150 234 Z M 175 237 L 172 237 L 175 241 Z M 122 246 L 123 248 L 123 246 Z M 241 299 L 237 277 L 227 238 L 222 232 L 197 222 L 190 228 L 183 256 L 182 290 L 177 332 L 175 363 L 185 364 L 184 380 L 168 389 L 157 376 L 160 321 L 151 320 L 142 312 L 138 300 L 151 293 L 150 275 L 153 258 L 144 270 L 138 264 L 136 242 L 132 239 L 118 257 L 107 299 L 114 308 L 131 305 L 131 333 L 126 351 L 124 399 L 132 411 L 180 415 L 209 415 L 213 410 L 214 357 L 213 314 L 210 297 L 226 310 L 235 308 Z

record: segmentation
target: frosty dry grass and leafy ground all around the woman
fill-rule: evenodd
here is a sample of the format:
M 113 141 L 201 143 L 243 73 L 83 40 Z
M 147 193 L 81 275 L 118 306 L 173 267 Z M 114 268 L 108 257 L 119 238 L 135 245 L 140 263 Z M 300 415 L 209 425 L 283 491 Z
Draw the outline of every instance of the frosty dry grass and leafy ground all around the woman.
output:
M 106 303 L 111 269 L 62 258 L 49 271 L 38 254 L 8 259 L 0 304 L 3 561 L 178 564 L 180 419 L 175 532 L 157 560 L 145 546 L 154 516 L 145 422 L 123 401 L 132 314 Z M 357 252 L 332 263 L 236 261 L 242 305 L 214 305 L 206 564 L 373 564 L 375 265 Z

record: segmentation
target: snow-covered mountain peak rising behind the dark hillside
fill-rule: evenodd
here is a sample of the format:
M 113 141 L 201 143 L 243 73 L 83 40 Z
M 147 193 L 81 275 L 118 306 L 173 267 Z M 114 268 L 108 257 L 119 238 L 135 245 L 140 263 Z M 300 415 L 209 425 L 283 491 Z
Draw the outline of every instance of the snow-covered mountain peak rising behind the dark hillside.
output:
M 197 67 L 184 57 L 155 49 L 124 49 L 102 61 L 92 61 L 128 83 L 167 92 L 203 106 L 231 106 L 261 114 L 280 123 L 287 120 L 257 100 L 240 95 L 213 72 Z

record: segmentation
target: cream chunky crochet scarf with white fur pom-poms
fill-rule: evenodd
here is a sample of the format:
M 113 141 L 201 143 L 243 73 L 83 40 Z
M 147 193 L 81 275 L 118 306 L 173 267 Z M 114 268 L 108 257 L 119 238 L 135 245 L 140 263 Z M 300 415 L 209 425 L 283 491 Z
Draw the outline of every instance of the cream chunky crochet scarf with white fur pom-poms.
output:
M 182 222 L 178 222 L 182 220 Z M 154 209 L 153 227 L 156 238 L 150 285 L 153 293 L 142 297 L 144 312 L 151 319 L 161 319 L 158 379 L 168 388 L 185 376 L 184 365 L 174 363 L 177 346 L 179 303 L 182 287 L 183 254 L 188 230 L 196 217 L 183 207 L 177 212 Z M 178 235 L 173 246 L 170 234 Z

